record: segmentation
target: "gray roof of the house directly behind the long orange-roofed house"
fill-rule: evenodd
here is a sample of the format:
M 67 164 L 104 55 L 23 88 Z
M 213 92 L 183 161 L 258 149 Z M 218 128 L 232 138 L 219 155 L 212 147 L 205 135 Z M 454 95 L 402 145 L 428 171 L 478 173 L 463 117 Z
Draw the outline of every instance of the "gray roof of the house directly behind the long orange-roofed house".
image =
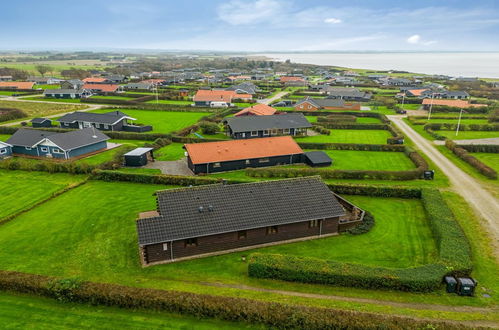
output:
M 235 133 L 270 129 L 312 127 L 312 124 L 310 124 L 307 118 L 305 118 L 305 116 L 301 113 L 271 116 L 230 117 L 226 118 L 225 121 Z

